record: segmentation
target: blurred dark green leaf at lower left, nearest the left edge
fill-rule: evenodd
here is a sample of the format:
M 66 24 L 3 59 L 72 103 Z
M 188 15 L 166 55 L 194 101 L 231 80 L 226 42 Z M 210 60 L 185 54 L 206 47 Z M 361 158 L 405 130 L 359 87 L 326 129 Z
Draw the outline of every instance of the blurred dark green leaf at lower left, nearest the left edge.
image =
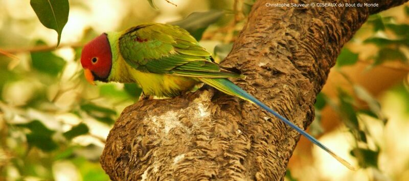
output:
M 55 150 L 58 145 L 53 141 L 50 135 L 33 132 L 26 135 L 27 142 L 30 146 L 35 146 L 43 151 Z

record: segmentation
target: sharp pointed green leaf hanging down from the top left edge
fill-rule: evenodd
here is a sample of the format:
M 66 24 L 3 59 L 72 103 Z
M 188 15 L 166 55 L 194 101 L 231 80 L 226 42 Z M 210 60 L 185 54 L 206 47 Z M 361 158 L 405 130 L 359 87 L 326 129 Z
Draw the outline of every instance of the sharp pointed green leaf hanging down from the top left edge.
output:
M 57 32 L 58 46 L 70 12 L 68 0 L 31 0 L 30 5 L 44 27 Z

